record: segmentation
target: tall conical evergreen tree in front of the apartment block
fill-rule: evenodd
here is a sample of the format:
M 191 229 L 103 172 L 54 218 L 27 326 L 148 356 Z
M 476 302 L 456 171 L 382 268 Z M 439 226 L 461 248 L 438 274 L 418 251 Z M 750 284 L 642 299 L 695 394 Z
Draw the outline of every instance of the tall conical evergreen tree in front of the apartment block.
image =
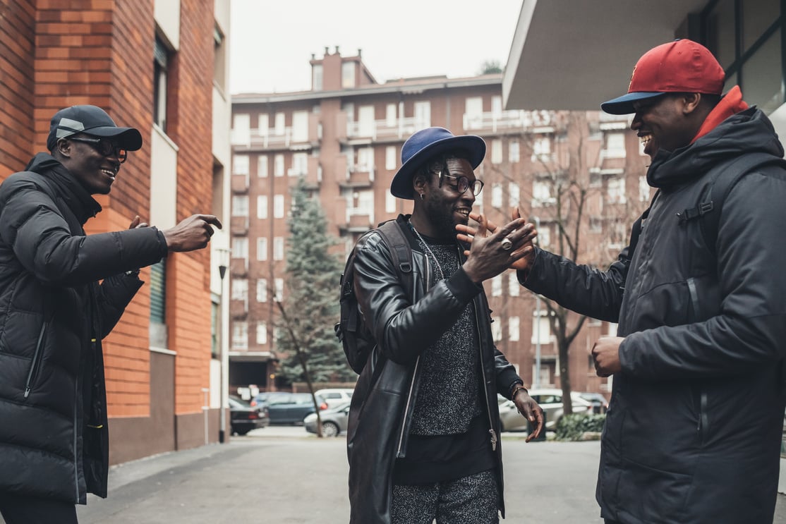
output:
M 299 178 L 293 191 L 286 256 L 287 293 L 279 302 L 277 347 L 285 357 L 281 373 L 292 382 L 354 379 L 333 324 L 339 317 L 343 262 L 332 255 L 337 243 L 326 230 L 319 200 Z

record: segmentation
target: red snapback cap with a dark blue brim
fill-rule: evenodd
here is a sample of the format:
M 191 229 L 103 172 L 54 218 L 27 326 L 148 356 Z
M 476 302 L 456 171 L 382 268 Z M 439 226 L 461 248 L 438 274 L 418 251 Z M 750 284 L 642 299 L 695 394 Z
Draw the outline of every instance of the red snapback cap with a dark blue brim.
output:
M 612 115 L 634 113 L 634 102 L 663 93 L 721 94 L 725 72 L 710 49 L 686 38 L 653 47 L 639 58 L 628 93 L 601 104 Z

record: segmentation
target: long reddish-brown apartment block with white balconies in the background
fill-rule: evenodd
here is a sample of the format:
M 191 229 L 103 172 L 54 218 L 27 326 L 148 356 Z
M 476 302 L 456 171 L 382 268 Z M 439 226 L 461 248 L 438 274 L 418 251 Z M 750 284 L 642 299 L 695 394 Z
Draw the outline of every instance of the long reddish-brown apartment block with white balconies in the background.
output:
M 580 251 L 583 262 L 606 264 L 626 244 L 629 217 L 647 206 L 645 156 L 626 117 L 599 112 L 505 111 L 502 75 L 443 76 L 378 83 L 361 52 L 342 57 L 325 48 L 312 56 L 312 86 L 295 93 L 232 98 L 232 293 L 230 386 L 281 387 L 275 362 L 274 296 L 285 293 L 290 189 L 305 177 L 339 236 L 342 255 L 378 222 L 409 213 L 390 195 L 401 146 L 414 131 L 445 126 L 479 134 L 487 156 L 476 170 L 485 182 L 476 209 L 495 222 L 510 205 L 540 223 L 540 241 L 558 248 L 560 220 L 578 207 L 560 194 L 574 180 L 586 189 Z M 487 281 L 498 346 L 527 384 L 560 386 L 556 336 L 545 306 L 520 287 L 513 272 Z M 540 319 L 540 321 L 536 321 Z M 578 321 L 568 317 L 568 324 Z M 605 390 L 586 348 L 612 327 L 584 324 L 572 345 L 573 390 Z M 539 354 L 539 358 L 538 358 Z M 540 362 L 536 372 L 535 362 Z

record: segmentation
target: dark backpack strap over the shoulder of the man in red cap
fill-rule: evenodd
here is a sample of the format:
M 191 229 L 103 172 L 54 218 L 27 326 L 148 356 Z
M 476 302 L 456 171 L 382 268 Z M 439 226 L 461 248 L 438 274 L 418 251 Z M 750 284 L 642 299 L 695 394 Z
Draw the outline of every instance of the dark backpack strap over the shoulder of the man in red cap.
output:
M 786 169 L 786 160 L 773 157 L 767 153 L 756 152 L 737 156 L 727 163 L 722 163 L 711 170 L 711 180 L 695 207 L 685 209 L 678 213 L 680 222 L 687 222 L 694 218 L 702 218 L 699 222 L 704 244 L 713 256 L 715 243 L 718 240 L 718 227 L 721 222 L 723 203 L 729 192 L 740 178 L 746 174 L 759 170 L 762 167 L 780 166 Z

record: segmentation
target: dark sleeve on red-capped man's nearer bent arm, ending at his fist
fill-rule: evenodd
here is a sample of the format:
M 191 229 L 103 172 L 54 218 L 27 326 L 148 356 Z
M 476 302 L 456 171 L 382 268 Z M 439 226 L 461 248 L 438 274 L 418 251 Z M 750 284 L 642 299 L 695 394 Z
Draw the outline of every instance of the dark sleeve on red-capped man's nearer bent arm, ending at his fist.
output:
M 623 372 L 652 380 L 732 376 L 786 357 L 784 201 L 782 172 L 747 174 L 734 186 L 718 225 L 719 313 L 628 335 L 619 348 Z

